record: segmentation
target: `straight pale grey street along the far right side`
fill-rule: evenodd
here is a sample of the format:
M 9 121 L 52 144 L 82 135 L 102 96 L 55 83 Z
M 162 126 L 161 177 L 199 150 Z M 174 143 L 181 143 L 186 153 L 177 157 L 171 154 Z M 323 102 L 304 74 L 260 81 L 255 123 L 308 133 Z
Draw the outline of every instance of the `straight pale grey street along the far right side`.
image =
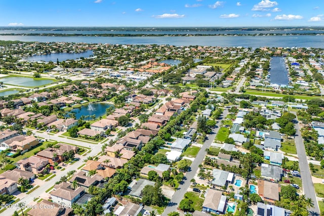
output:
M 296 113 L 294 113 L 296 114 Z M 299 159 L 299 168 L 300 168 L 300 175 L 303 180 L 303 189 L 304 193 L 307 198 L 311 198 L 314 203 L 314 207 L 310 208 L 310 212 L 317 212 L 319 215 L 319 208 L 318 208 L 318 203 L 316 200 L 316 194 L 314 190 L 314 185 L 312 181 L 312 177 L 310 175 L 310 170 L 307 162 L 307 156 L 306 156 L 306 151 L 305 151 L 305 146 L 303 143 L 303 139 L 300 133 L 300 126 L 299 123 L 295 124 L 295 127 L 297 129 L 296 136 L 295 136 L 295 144 L 297 148 L 297 154 L 298 154 L 298 159 Z M 313 214 L 316 215 L 316 214 Z

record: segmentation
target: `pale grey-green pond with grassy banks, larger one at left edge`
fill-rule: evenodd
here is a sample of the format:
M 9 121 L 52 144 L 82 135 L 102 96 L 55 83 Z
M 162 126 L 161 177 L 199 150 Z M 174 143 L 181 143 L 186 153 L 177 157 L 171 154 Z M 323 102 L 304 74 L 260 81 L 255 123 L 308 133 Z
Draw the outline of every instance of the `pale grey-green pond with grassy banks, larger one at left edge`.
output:
M 36 80 L 33 78 L 23 77 L 23 76 L 5 77 L 5 78 L 1 78 L 0 81 L 4 82 L 5 84 L 19 85 L 22 87 L 37 87 L 37 86 L 46 85 L 51 82 L 54 82 L 52 79 Z

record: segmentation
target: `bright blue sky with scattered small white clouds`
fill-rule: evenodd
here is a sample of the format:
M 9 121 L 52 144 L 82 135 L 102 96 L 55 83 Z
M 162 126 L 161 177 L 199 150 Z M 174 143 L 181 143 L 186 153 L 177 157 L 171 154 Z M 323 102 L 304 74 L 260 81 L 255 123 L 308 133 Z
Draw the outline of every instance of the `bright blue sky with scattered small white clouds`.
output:
M 0 0 L 0 26 L 323 26 L 323 0 Z

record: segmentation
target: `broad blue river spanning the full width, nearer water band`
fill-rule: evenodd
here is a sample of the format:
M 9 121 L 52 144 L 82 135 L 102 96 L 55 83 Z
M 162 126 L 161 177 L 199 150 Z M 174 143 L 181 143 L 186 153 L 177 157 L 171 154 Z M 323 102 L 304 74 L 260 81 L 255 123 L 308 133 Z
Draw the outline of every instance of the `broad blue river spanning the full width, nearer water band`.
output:
M 218 46 L 218 47 L 311 47 L 324 48 L 324 35 L 296 36 L 20 36 L 0 35 L 0 40 L 20 40 L 39 42 L 86 42 L 92 44 L 129 45 L 173 45 L 173 46 Z M 56 60 L 55 60 L 56 61 Z

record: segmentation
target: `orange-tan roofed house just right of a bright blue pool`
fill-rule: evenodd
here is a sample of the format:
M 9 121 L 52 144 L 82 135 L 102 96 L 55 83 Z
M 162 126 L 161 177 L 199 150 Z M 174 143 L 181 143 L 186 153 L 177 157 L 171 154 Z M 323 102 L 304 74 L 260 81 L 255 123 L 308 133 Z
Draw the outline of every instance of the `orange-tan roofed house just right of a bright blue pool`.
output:
M 274 203 L 279 200 L 279 192 L 281 187 L 274 182 L 258 180 L 258 194 L 266 202 Z

